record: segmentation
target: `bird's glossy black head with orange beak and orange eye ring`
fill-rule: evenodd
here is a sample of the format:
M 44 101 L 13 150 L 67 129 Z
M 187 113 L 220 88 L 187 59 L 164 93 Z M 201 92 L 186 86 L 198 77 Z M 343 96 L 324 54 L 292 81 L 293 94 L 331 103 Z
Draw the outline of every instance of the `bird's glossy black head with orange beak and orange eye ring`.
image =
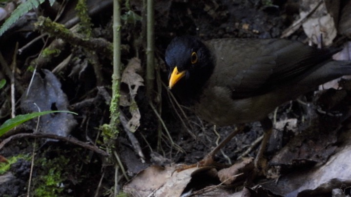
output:
M 179 84 L 183 84 L 182 89 L 200 91 L 214 69 L 209 49 L 200 39 L 191 36 L 173 39 L 165 51 L 165 61 L 169 69 L 170 89 L 178 81 L 183 81 Z

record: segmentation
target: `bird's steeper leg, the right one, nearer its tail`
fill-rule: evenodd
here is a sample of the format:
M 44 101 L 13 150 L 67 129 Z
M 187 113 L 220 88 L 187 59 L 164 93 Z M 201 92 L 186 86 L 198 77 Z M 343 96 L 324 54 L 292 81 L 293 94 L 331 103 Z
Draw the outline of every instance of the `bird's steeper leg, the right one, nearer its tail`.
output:
M 257 156 L 254 160 L 255 167 L 258 171 L 263 172 L 265 174 L 267 168 L 267 159 L 264 158 L 264 153 L 266 151 L 267 143 L 273 131 L 272 121 L 266 117 L 265 119 L 260 121 L 262 125 L 262 129 L 264 131 L 264 136 L 261 142 L 261 146 L 258 150 Z

